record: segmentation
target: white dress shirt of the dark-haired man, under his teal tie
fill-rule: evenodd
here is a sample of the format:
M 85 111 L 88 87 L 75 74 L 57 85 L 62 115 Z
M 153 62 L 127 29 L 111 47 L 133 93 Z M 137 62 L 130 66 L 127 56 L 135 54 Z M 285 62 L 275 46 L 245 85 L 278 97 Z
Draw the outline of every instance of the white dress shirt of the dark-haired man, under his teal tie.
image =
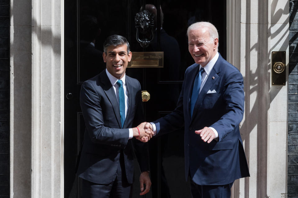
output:
M 113 86 L 113 89 L 114 89 L 114 92 L 115 92 L 115 95 L 116 95 L 116 98 L 117 98 L 117 101 L 118 101 L 118 104 L 119 104 L 119 86 L 117 84 L 117 81 L 119 79 L 115 78 L 113 75 L 111 75 L 108 70 L 106 69 L 106 75 L 108 76 L 112 86 Z M 124 100 L 125 100 L 125 118 L 126 118 L 126 114 L 127 114 L 127 109 L 128 109 L 128 90 L 127 90 L 127 86 L 125 84 L 125 74 L 123 76 L 123 78 L 121 78 L 120 80 L 122 80 L 122 84 L 123 84 L 123 89 L 124 89 Z M 133 129 L 130 128 L 129 129 L 129 139 L 133 138 Z

